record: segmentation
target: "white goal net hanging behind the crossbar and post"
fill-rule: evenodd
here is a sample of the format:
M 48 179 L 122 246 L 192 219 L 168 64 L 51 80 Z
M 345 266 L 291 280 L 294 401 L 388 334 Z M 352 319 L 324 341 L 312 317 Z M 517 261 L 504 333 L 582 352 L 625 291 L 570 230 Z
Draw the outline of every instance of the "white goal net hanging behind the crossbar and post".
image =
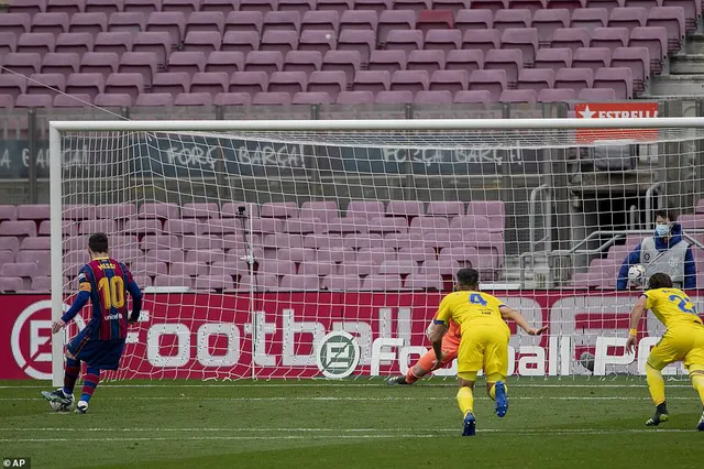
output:
M 509 325 L 510 374 L 642 374 L 663 329 L 648 316 L 625 353 L 641 287 L 622 264 L 670 210 L 691 247 L 668 269 L 704 310 L 692 287 L 702 127 L 52 122 L 53 316 L 77 291 L 88 237 L 106 232 L 145 297 L 113 379 L 397 375 L 428 350 L 440 299 L 472 266 L 483 291 L 550 326 L 528 337 Z

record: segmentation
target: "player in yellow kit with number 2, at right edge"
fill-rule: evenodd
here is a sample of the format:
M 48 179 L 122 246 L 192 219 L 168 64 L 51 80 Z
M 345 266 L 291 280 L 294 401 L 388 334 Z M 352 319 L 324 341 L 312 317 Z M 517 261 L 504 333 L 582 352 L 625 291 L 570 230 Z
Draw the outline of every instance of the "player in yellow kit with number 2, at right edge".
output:
M 628 353 L 635 351 L 638 323 L 648 309 L 668 328 L 662 339 L 650 350 L 646 363 L 648 389 L 656 404 L 656 414 L 646 425 L 658 426 L 669 418 L 661 371 L 670 363 L 684 362 L 692 385 L 704 405 L 704 325 L 692 299 L 681 290 L 672 287 L 672 279 L 668 274 L 652 274 L 648 281 L 648 290 L 638 298 L 630 313 L 630 331 L 626 341 Z M 696 428 L 704 432 L 704 413 Z

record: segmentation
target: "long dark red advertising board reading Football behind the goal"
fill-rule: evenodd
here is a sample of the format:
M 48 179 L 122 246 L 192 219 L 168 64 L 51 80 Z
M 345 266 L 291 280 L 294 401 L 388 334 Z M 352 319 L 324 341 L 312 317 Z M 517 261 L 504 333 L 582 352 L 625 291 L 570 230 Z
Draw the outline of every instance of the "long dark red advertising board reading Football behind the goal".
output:
M 640 325 L 636 356 L 625 355 L 635 293 L 492 293 L 520 309 L 529 323 L 550 326 L 547 337 L 536 338 L 516 335 L 509 325 L 510 374 L 587 374 L 580 363 L 584 352 L 594 355 L 594 374 L 644 374 L 648 351 L 663 332 L 649 314 Z M 704 310 L 704 293 L 690 296 L 697 310 Z M 0 298 L 0 379 L 50 379 L 48 295 Z M 425 331 L 441 298 L 440 293 L 419 292 L 264 293 L 255 295 L 255 313 L 250 314 L 248 294 L 147 294 L 116 378 L 322 377 L 317 353 L 331 331 L 356 339 L 360 357 L 353 374 L 405 372 L 429 347 Z M 72 326 L 68 334 L 76 330 Z M 664 372 L 682 369 L 671 366 Z M 454 370 L 436 374 L 452 375 Z

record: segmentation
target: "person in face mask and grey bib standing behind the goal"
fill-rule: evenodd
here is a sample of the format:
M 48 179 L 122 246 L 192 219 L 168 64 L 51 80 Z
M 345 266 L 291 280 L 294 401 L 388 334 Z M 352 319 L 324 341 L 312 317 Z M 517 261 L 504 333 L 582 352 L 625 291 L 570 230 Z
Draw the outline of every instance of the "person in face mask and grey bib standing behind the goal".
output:
M 682 239 L 682 226 L 676 217 L 666 210 L 656 210 L 653 236 L 644 238 L 626 257 L 618 271 L 616 290 L 628 287 L 628 269 L 642 264 L 646 268 L 644 284 L 654 273 L 664 273 L 672 279 L 675 288 L 696 288 L 696 269 L 692 248 Z

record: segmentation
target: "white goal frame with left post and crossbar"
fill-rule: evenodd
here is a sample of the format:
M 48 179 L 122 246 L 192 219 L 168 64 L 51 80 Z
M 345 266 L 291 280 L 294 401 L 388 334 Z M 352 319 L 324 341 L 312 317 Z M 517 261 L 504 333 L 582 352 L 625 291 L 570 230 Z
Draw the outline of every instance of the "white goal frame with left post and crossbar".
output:
M 62 284 L 62 132 L 413 132 L 668 128 L 704 128 L 704 118 L 51 121 L 48 153 L 52 320 L 61 318 L 64 308 L 64 285 Z M 52 340 L 52 377 L 54 385 L 63 383 L 64 335 L 59 337 L 62 337 L 61 340 Z

